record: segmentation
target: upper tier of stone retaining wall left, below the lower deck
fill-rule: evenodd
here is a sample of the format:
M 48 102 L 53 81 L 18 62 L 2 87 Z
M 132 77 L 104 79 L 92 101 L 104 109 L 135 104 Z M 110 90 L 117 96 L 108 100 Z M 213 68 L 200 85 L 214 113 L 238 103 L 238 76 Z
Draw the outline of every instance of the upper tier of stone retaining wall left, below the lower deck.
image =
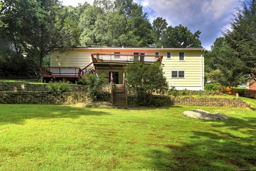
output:
M 70 85 L 74 92 L 86 92 L 85 85 Z M 47 84 L 29 84 L 22 82 L 0 82 L 0 92 L 49 92 Z

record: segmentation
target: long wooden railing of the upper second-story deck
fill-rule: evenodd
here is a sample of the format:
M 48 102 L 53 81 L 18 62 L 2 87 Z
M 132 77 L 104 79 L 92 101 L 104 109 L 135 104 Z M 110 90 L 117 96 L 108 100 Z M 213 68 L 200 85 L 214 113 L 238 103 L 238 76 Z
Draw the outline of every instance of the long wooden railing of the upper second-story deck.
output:
M 142 63 L 162 62 L 163 56 L 160 55 L 131 55 L 131 54 L 91 54 L 93 62 L 113 62 L 113 63 L 131 63 L 139 61 Z

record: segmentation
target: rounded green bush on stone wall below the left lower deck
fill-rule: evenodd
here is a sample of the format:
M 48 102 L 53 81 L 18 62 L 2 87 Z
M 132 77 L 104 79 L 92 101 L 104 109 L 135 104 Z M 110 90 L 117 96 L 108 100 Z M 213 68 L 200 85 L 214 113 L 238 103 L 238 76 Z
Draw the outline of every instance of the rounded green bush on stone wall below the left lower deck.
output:
M 53 80 L 47 86 L 50 92 L 69 92 L 71 90 L 70 83 L 63 79 L 62 81 L 54 82 Z

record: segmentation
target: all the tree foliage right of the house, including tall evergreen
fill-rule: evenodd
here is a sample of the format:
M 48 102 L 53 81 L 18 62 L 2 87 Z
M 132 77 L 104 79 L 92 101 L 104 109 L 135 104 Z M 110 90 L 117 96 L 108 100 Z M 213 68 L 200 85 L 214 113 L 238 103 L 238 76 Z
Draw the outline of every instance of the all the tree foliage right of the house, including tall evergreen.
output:
M 243 1 L 229 30 L 205 53 L 205 71 L 221 71 L 223 85 L 237 86 L 256 80 L 256 1 Z M 214 72 L 220 73 L 220 72 Z

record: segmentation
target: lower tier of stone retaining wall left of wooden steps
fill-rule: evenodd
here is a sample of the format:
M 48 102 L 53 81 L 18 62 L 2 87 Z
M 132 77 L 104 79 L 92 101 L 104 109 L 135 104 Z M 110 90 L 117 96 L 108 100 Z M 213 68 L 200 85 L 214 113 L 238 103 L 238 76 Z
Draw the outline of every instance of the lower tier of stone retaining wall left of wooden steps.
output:
M 111 94 L 105 93 L 101 101 L 110 101 Z M 86 92 L 0 92 L 2 104 L 76 104 L 89 101 Z

